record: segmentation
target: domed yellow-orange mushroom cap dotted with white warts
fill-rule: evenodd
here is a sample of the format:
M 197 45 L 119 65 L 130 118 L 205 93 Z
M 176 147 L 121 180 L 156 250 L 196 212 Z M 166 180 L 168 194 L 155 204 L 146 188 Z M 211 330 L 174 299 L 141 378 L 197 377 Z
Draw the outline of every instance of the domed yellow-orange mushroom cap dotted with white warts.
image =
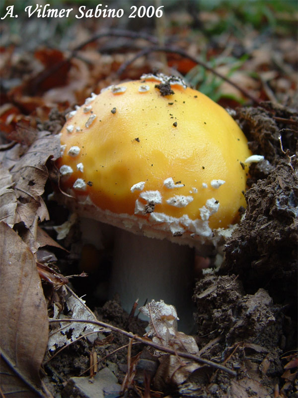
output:
M 167 79 L 111 86 L 70 113 L 61 188 L 93 207 L 94 218 L 132 232 L 153 225 L 159 237 L 208 238 L 245 206 L 251 152 L 223 107 Z

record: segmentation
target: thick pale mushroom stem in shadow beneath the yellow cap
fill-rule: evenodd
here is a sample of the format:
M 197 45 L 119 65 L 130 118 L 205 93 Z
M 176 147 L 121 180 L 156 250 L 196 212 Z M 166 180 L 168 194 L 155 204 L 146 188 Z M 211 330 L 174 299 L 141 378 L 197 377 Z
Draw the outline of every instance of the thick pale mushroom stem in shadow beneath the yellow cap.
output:
M 119 228 L 115 233 L 109 297 L 118 293 L 128 312 L 138 298 L 139 305 L 144 305 L 146 299 L 162 299 L 176 307 L 178 329 L 189 333 L 194 326 L 191 300 L 194 250 Z

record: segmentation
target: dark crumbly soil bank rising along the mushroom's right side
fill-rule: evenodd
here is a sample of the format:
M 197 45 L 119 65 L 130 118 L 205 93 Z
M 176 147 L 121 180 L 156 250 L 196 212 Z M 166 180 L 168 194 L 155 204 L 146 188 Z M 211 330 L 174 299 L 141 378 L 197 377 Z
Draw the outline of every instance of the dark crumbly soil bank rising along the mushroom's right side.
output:
M 291 158 L 297 132 L 274 116 L 297 121 L 284 108 L 274 115 L 262 108 L 237 110 L 250 148 L 267 160 L 250 167 L 245 216 L 226 242 L 219 274 L 198 281 L 193 296 L 202 355 L 227 360 L 245 386 L 254 381 L 247 396 L 257 397 L 273 397 L 275 386 L 282 387 L 282 353 L 297 347 L 298 180 Z M 223 374 L 213 382 L 210 397 L 225 397 L 234 388 Z M 296 396 L 291 391 L 283 393 Z

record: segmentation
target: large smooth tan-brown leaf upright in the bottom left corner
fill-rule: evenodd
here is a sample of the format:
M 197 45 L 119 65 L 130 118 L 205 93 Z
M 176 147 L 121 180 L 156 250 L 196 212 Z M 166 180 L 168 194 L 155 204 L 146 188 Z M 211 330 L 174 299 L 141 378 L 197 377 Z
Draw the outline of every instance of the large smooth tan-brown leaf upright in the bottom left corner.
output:
M 48 342 L 47 305 L 34 256 L 0 223 L 0 347 L 4 396 L 36 397 Z

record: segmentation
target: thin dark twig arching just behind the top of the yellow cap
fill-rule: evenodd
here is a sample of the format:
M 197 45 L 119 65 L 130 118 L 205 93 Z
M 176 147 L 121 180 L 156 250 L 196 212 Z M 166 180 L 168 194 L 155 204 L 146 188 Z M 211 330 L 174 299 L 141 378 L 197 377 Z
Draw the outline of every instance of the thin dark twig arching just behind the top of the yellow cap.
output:
M 223 79 L 225 82 L 233 86 L 235 89 L 239 90 L 245 97 L 249 98 L 252 100 L 254 103 L 258 104 L 259 106 L 261 105 L 261 101 L 254 97 L 252 94 L 250 94 L 247 90 L 243 89 L 242 87 L 238 86 L 236 83 L 231 81 L 229 78 L 225 77 L 222 75 L 220 72 L 216 71 L 215 69 L 211 68 L 208 66 L 205 62 L 199 60 L 197 57 L 193 57 L 190 54 L 187 54 L 184 50 L 176 47 L 160 47 L 160 46 L 152 46 L 148 48 L 144 48 L 143 50 L 139 51 L 134 57 L 132 57 L 130 60 L 124 62 L 121 67 L 117 71 L 117 75 L 120 76 L 125 69 L 132 64 L 136 59 L 143 57 L 144 55 L 147 55 L 151 52 L 166 52 L 166 53 L 175 53 L 180 55 L 181 57 L 188 58 L 191 61 L 195 62 L 198 65 L 203 66 L 207 71 L 212 72 L 214 75 L 218 76 L 219 78 Z

